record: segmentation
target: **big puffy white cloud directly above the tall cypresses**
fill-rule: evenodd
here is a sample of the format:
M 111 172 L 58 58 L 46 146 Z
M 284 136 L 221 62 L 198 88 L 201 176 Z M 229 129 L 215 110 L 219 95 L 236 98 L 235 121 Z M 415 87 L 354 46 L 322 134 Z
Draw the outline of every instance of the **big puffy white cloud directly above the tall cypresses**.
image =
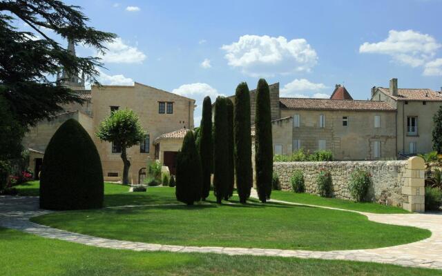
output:
M 309 72 L 318 55 L 305 39 L 243 35 L 238 42 L 221 47 L 230 66 L 251 77 L 274 77 L 291 72 Z

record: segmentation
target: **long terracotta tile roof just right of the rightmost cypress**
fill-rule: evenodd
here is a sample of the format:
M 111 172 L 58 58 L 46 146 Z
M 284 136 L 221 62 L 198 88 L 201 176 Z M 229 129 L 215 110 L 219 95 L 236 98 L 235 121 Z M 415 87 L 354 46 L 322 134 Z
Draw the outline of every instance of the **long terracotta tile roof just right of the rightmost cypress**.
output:
M 385 101 L 363 101 L 346 99 L 280 98 L 280 107 L 301 110 L 382 110 L 394 111 Z

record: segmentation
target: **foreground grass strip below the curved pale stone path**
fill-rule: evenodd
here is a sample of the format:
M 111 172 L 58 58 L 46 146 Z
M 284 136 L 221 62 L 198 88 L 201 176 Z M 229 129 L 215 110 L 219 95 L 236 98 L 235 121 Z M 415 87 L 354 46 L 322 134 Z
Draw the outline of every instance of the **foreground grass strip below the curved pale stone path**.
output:
M 387 264 L 95 248 L 0 228 L 1 275 L 442 275 Z

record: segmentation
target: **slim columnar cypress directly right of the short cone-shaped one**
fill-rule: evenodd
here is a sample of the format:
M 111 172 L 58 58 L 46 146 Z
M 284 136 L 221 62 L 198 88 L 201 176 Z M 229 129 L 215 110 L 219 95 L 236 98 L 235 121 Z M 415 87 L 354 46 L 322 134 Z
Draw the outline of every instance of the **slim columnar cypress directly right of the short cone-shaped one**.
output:
M 206 200 L 206 197 L 209 197 L 211 167 L 213 163 L 212 102 L 209 96 L 205 97 L 202 102 L 199 146 L 202 166 L 202 200 Z

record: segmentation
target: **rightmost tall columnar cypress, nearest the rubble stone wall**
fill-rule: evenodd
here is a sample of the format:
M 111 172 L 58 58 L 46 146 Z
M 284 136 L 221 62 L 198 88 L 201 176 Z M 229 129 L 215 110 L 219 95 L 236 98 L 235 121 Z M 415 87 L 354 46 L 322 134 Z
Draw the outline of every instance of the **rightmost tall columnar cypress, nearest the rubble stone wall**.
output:
M 256 188 L 260 201 L 265 203 L 270 199 L 273 174 L 270 90 L 265 79 L 260 79 L 256 88 L 255 132 Z

